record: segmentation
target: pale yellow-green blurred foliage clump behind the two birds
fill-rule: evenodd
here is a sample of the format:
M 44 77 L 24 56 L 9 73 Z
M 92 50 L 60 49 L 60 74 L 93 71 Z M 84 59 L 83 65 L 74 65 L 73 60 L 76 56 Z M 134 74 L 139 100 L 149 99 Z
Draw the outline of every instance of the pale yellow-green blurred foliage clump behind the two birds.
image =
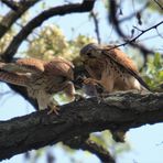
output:
M 84 35 L 78 35 L 74 41 L 67 41 L 58 26 L 47 25 L 41 30 L 36 37 L 30 41 L 25 54 L 46 61 L 54 56 L 62 56 L 78 62 L 79 50 L 89 42 L 95 42 L 95 40 Z

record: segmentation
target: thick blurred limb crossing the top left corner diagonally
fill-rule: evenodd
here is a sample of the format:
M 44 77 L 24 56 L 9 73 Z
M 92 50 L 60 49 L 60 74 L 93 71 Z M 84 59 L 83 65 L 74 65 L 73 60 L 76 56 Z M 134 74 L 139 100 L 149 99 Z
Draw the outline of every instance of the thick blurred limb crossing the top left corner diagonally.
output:
M 34 6 L 40 0 L 25 0 L 17 3 L 18 10 L 9 11 L 0 21 L 0 39 L 6 34 L 6 32 L 11 28 L 11 25 L 32 6 Z

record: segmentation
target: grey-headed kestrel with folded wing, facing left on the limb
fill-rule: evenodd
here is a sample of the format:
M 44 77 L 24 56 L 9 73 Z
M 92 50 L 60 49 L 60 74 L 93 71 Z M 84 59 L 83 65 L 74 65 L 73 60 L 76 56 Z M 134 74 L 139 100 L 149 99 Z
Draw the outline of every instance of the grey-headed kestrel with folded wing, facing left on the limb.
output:
M 90 75 L 85 84 L 100 85 L 106 93 L 149 89 L 132 59 L 119 48 L 90 43 L 80 50 L 80 56 Z

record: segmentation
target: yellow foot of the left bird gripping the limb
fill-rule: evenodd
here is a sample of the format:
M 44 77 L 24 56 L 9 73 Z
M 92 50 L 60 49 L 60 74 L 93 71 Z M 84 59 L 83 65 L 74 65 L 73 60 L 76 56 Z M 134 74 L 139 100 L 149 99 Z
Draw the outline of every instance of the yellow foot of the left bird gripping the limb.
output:
M 58 107 L 56 100 L 51 99 L 50 102 L 48 102 L 48 107 L 50 107 L 50 111 L 47 112 L 47 115 L 51 115 L 51 113 L 53 113 L 53 112 L 54 112 L 55 115 L 58 115 L 59 107 Z

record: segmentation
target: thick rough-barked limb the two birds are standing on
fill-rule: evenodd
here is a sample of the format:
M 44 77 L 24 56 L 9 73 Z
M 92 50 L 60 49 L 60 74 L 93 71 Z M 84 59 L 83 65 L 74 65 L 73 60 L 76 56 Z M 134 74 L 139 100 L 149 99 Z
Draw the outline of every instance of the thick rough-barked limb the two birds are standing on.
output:
M 0 160 L 95 131 L 128 130 L 163 122 L 163 93 L 109 95 L 61 107 L 59 116 L 37 111 L 0 122 Z

